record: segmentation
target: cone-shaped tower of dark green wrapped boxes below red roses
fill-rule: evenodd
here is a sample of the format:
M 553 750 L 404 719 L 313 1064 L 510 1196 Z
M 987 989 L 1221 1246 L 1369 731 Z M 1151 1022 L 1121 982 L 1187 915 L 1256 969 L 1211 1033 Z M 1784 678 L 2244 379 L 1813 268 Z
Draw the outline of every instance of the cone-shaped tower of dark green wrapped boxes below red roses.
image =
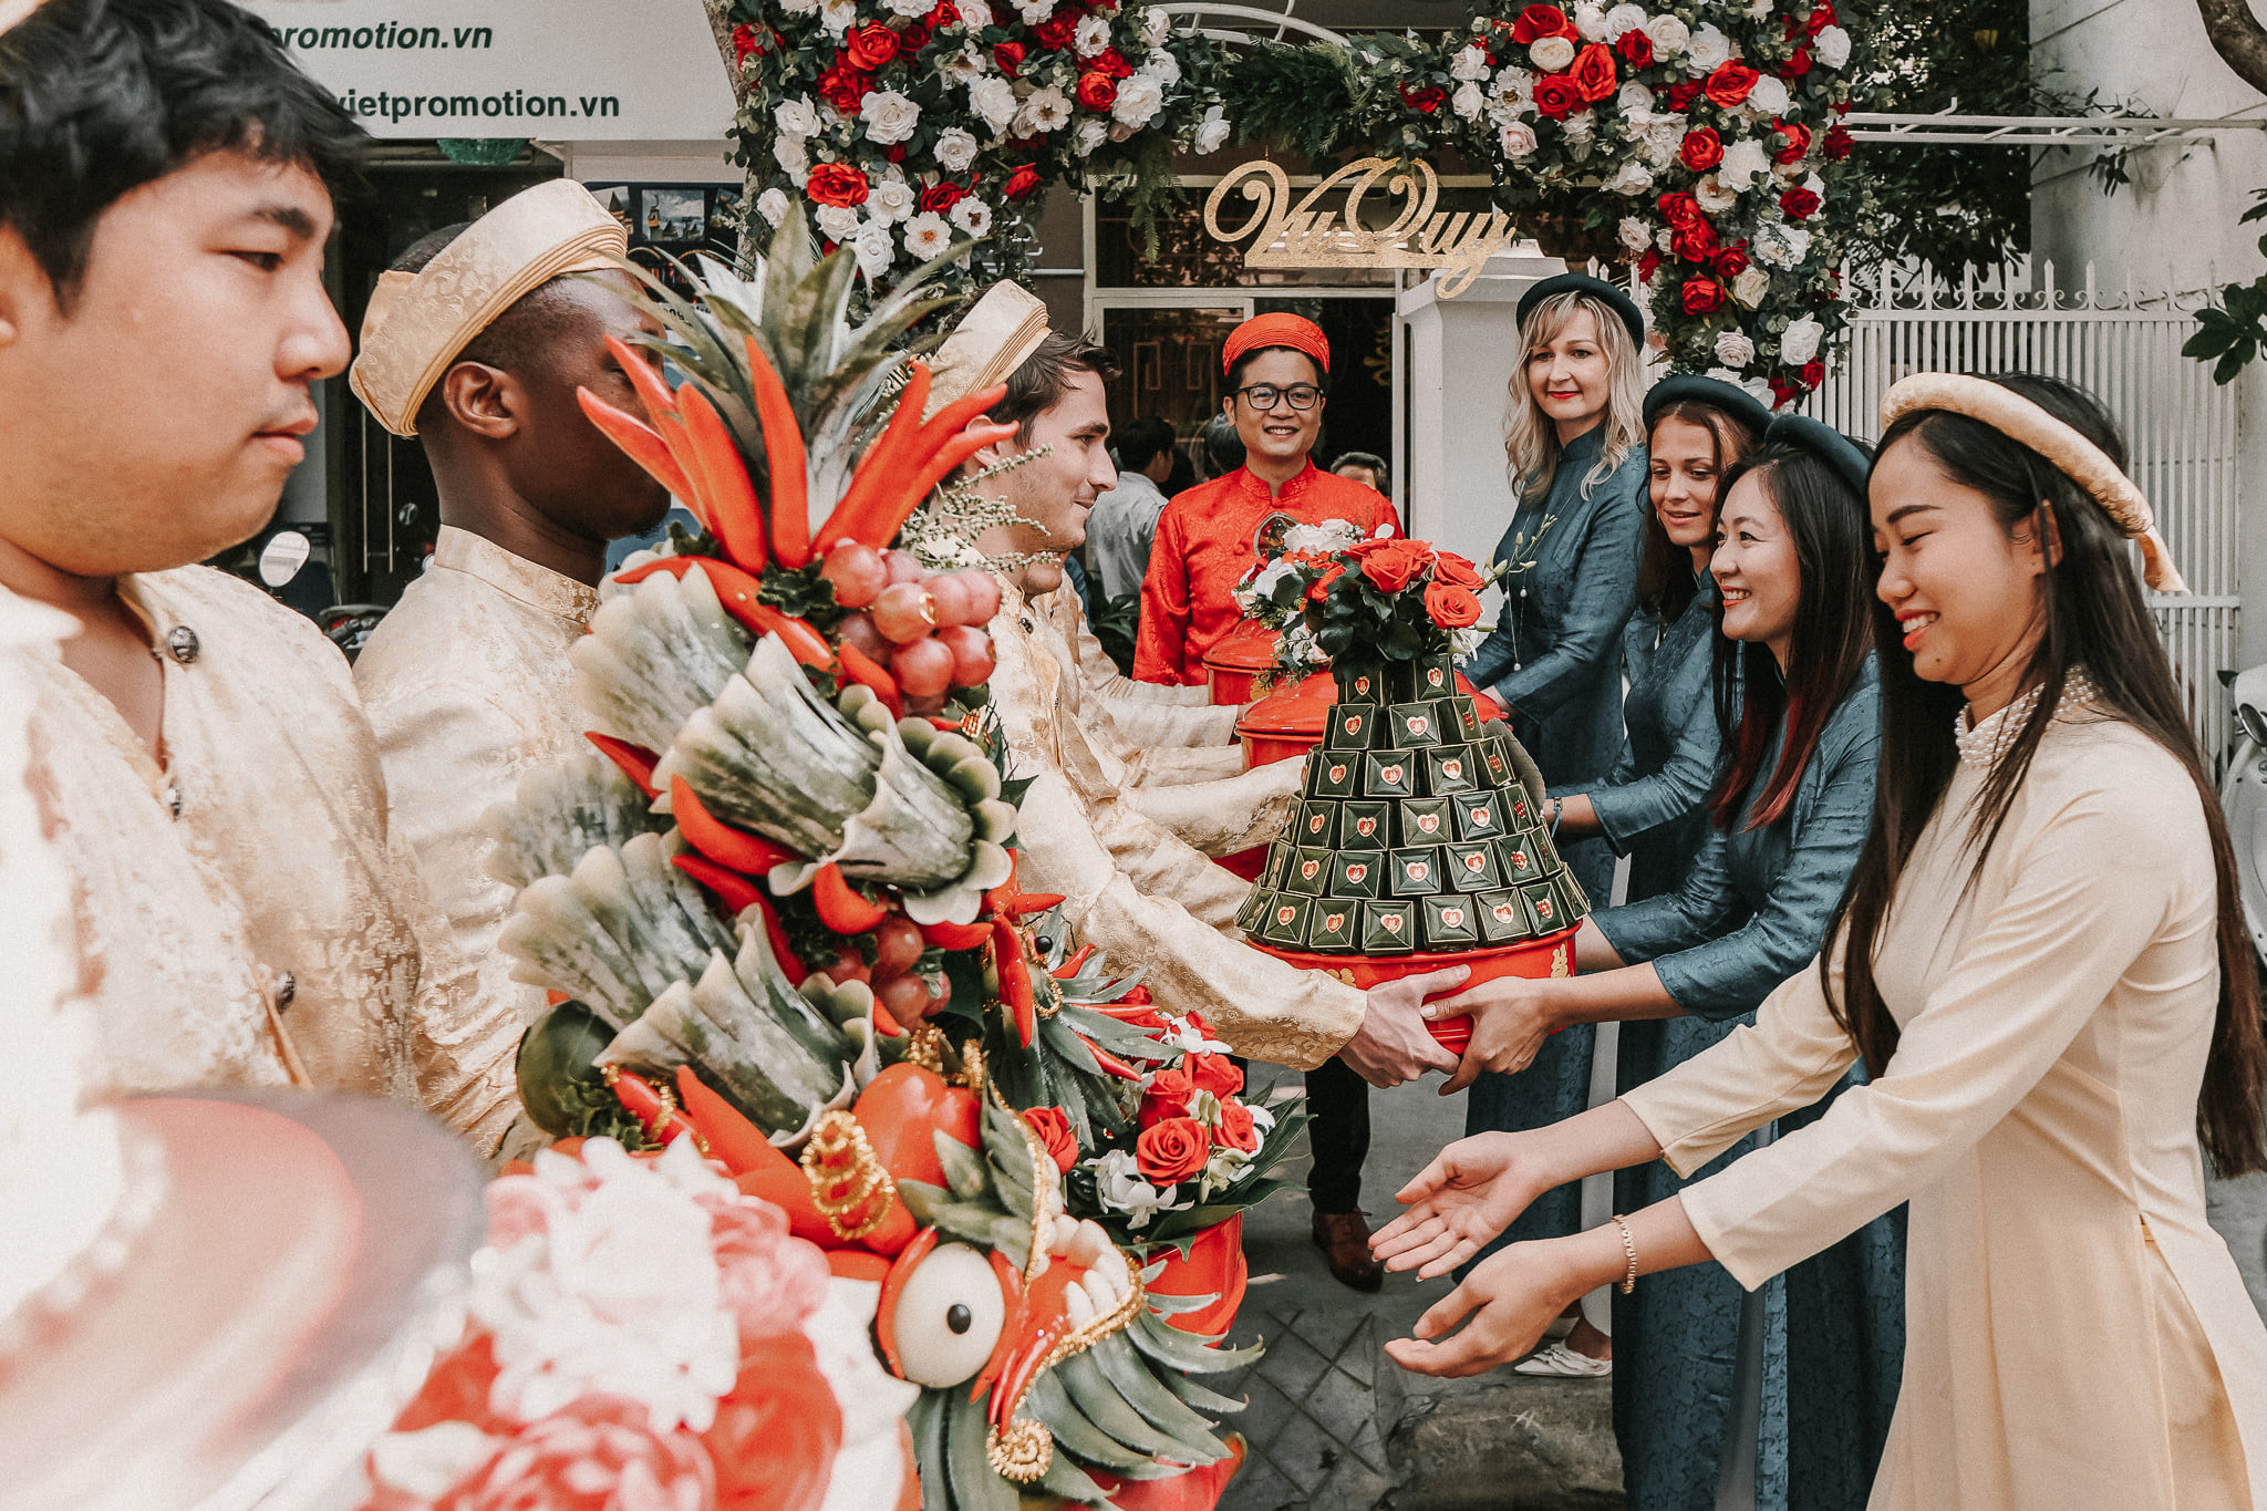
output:
M 1340 666 L 1338 698 L 1238 927 L 1279 951 L 1464 954 L 1589 913 L 1510 739 L 1449 657 Z

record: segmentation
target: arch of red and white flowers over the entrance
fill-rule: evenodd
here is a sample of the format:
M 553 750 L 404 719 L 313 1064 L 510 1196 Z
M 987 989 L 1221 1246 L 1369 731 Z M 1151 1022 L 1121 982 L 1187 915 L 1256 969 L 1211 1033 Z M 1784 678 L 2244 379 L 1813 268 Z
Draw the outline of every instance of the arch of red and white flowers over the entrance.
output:
M 1476 0 L 1440 39 L 1231 52 L 1138 0 L 730 0 L 753 229 L 803 197 L 891 283 L 1029 267 L 1045 183 L 1172 190 L 1174 152 L 1458 152 L 1625 263 L 1678 372 L 1789 403 L 1848 324 L 1854 41 L 1834 0 Z M 769 222 L 769 224 L 766 224 Z M 1569 240 L 1569 236 L 1560 236 Z

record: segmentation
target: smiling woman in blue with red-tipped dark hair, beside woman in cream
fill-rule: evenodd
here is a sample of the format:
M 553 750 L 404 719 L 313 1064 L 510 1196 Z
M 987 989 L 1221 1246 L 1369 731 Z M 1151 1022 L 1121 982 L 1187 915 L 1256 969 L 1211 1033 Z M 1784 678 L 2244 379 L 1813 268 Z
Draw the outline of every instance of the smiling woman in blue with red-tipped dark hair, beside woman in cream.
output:
M 1582 924 L 1587 974 L 1498 979 L 1440 1004 L 1474 1010 L 1460 1076 L 1476 1062 L 1517 1072 L 1566 1024 L 1628 1019 L 1635 1053 L 1619 1087 L 1630 1092 L 1752 1024 L 1818 954 L 1866 840 L 1879 750 L 1863 487 L 1866 455 L 1793 417 L 1725 473 L 1709 718 L 1725 759 L 1705 840 L 1675 890 Z M 1616 1198 L 1641 1207 L 1682 1185 L 1655 1164 L 1623 1171 Z M 1614 1434 L 1630 1506 L 1714 1511 L 1725 1493 L 1861 1506 L 1895 1402 L 1900 1255 L 1897 1219 L 1882 1217 L 1752 1296 L 1721 1264 L 1616 1296 Z

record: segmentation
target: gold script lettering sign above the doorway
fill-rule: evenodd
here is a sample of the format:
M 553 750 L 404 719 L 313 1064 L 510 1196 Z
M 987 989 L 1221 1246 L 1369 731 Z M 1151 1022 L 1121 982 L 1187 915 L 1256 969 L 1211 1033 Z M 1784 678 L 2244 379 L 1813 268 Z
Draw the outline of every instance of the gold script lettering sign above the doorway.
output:
M 1392 224 L 1372 231 L 1362 224 L 1362 199 L 1381 181 L 1381 199 L 1399 199 L 1401 206 Z M 1344 208 L 1317 211 L 1335 190 L 1347 193 Z M 1231 193 L 1254 202 L 1251 217 L 1240 227 L 1220 224 L 1220 206 Z M 1449 267 L 1455 276 L 1440 285 L 1440 297 L 1455 299 L 1480 276 L 1487 258 L 1510 245 L 1512 217 L 1503 211 L 1451 215 L 1435 204 L 1440 177 L 1424 161 L 1372 156 L 1347 163 L 1292 204 L 1290 174 L 1260 159 L 1213 186 L 1204 202 L 1204 229 L 1224 242 L 1249 238 L 1245 267 Z

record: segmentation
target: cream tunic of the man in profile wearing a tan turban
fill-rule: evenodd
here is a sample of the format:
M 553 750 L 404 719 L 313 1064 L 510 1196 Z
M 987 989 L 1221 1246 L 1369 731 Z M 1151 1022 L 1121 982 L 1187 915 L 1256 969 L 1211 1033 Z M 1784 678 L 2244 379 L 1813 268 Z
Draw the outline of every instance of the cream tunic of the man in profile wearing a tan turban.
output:
M 598 594 L 494 541 L 442 526 L 433 566 L 379 623 L 354 684 L 379 734 L 394 825 L 417 852 L 426 890 L 476 972 L 465 1022 L 467 1094 L 487 1144 L 519 1112 L 519 1035 L 542 1017 L 542 988 L 512 981 L 496 936 L 512 888 L 483 868 L 481 816 L 519 779 L 583 750 L 589 727 L 569 693 L 567 652 Z

